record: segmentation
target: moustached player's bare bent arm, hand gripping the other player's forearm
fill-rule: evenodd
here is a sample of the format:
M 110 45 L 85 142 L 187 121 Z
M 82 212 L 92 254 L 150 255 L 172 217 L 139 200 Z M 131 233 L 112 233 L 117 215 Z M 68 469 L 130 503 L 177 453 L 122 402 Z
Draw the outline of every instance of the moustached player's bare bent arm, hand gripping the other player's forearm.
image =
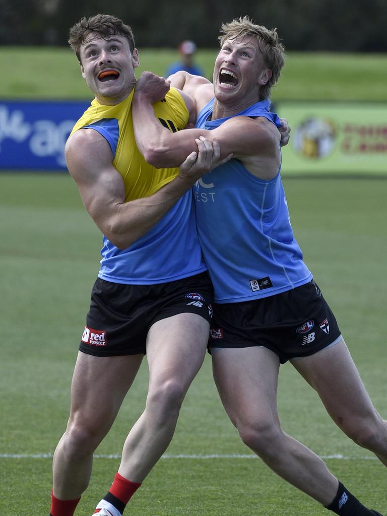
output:
M 101 232 L 120 249 L 147 233 L 206 171 L 216 166 L 219 146 L 197 141 L 197 153 L 180 167 L 180 174 L 150 197 L 125 202 L 121 175 L 112 166 L 106 139 L 93 129 L 81 129 L 66 144 L 68 169 L 83 203 Z M 221 164 L 219 162 L 218 164 Z

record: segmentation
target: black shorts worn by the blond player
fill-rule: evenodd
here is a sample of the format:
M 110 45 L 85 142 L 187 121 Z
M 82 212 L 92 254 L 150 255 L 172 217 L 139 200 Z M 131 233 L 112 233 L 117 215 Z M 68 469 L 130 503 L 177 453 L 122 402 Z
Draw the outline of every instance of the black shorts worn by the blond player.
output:
M 312 280 L 275 296 L 214 304 L 208 348 L 264 346 L 284 364 L 307 357 L 338 337 L 336 319 Z

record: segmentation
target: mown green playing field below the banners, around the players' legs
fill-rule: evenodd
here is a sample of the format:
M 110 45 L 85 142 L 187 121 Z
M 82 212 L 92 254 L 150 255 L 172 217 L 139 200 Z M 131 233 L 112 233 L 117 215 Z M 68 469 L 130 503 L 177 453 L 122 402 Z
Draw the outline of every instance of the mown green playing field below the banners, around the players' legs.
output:
M 0 94 L 1 96 L 1 94 Z M 385 307 L 387 182 L 286 179 L 296 237 L 331 304 L 375 406 L 387 418 Z M 67 174 L 0 174 L 2 309 L 0 514 L 47 516 L 51 456 L 69 411 L 77 344 L 99 268 L 101 235 Z M 141 413 L 146 362 L 96 451 L 77 516 L 90 516 Z M 286 432 L 324 457 L 362 502 L 387 512 L 387 474 L 349 441 L 291 365 L 280 372 Z M 240 441 L 218 400 L 211 360 L 193 382 L 166 456 L 133 498 L 142 516 L 322 516 Z

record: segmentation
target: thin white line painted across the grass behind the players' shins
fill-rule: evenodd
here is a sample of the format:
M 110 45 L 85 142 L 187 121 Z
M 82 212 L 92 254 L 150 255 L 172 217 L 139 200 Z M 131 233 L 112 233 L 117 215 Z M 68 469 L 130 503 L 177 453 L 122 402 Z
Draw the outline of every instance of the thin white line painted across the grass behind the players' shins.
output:
M 341 454 L 320 455 L 321 459 L 338 459 L 338 460 L 377 460 L 375 456 L 363 457 L 346 457 Z M 17 454 L 17 453 L 0 453 L 0 459 L 52 459 L 52 453 L 36 453 L 36 454 Z M 95 454 L 94 459 L 120 459 L 120 454 Z M 189 455 L 178 454 L 162 455 L 162 459 L 256 459 L 253 454 L 211 454 L 211 455 Z

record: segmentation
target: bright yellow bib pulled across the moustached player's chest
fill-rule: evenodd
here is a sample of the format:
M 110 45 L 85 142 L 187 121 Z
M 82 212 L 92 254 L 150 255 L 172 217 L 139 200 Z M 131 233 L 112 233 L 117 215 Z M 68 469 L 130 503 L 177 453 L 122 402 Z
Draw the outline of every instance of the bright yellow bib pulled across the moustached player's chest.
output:
M 179 174 L 178 168 L 157 169 L 149 165 L 140 154 L 133 129 L 133 94 L 134 89 L 116 106 L 105 106 L 94 99 L 71 132 L 93 124 L 106 137 L 114 156 L 112 165 L 124 181 L 125 201 L 149 197 Z M 153 108 L 156 117 L 170 131 L 180 131 L 187 125 L 188 109 L 178 90 L 171 88 L 165 100 L 156 102 Z

